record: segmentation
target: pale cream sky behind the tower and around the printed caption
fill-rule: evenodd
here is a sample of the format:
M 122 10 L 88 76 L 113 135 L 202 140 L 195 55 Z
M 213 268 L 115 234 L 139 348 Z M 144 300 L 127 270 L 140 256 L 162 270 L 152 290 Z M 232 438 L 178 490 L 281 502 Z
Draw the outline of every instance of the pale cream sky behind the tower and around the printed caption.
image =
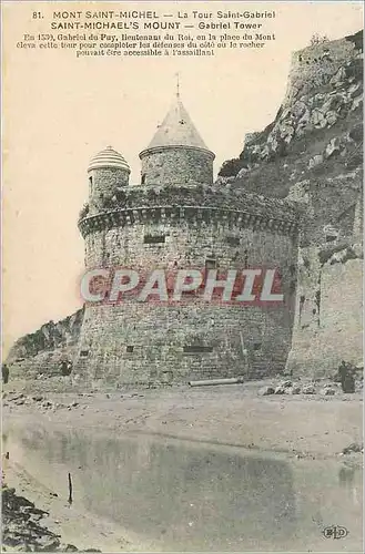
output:
M 116 4 L 176 13 L 207 6 L 212 12 L 236 11 L 242 2 L 57 2 L 58 10 Z M 334 40 L 363 27 L 361 2 L 245 2 L 245 10 L 257 9 L 276 11 L 265 23 L 276 40 L 262 50 L 222 49 L 211 58 L 75 59 L 69 50 L 17 48 L 30 29 L 48 32 L 54 3 L 2 3 L 4 356 L 18 337 L 81 307 L 83 240 L 77 222 L 87 201 L 89 160 L 112 145 L 131 166 L 130 183 L 138 184 L 138 154 L 169 110 L 176 72 L 181 99 L 216 154 L 216 174 L 240 154 L 245 133 L 275 117 L 292 52 L 308 45 L 314 33 Z M 31 19 L 37 10 L 42 21 Z

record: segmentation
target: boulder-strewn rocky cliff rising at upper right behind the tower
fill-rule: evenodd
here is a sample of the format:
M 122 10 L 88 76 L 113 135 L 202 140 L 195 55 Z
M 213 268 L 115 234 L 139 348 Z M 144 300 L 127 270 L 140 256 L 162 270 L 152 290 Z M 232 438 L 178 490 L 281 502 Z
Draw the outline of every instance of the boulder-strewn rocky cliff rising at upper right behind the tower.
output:
M 247 191 L 286 196 L 306 170 L 337 155 L 356 167 L 363 136 L 362 37 L 358 32 L 295 52 L 275 120 L 264 131 L 246 135 L 240 157 L 225 162 L 219 178 L 235 177 L 236 185 Z M 264 181 L 273 167 L 271 181 Z

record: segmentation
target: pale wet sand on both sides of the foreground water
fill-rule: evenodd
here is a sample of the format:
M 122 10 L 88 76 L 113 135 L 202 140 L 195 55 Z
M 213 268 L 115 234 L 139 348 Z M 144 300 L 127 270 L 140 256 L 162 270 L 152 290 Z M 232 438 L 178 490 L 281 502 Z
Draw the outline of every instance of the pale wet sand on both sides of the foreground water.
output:
M 258 390 L 264 384 L 109 393 L 28 391 L 13 402 L 11 391 L 24 390 L 19 382 L 7 391 L 3 428 L 6 434 L 9 429 L 42 428 L 50 433 L 80 430 L 111 439 L 122 435 L 179 439 L 206 449 L 216 445 L 226 452 L 239 448 L 253 454 L 277 453 L 295 463 L 322 461 L 324 468 L 326 461 L 329 464 L 345 458 L 346 463 L 361 465 L 361 453 L 344 456 L 342 451 L 351 443 L 362 442 L 362 392 L 343 394 L 337 390 L 335 396 L 323 397 L 320 394 L 322 383 L 317 387 L 318 393 L 313 396 L 262 397 Z M 6 481 L 38 507 L 50 512 L 44 524 L 61 533 L 63 543 L 104 552 L 163 550 L 158 540 L 133 533 L 115 521 L 95 517 L 80 506 L 70 510 L 65 496 L 52 496 L 52 491 L 34 478 L 31 463 L 28 465 L 27 460 L 10 451 Z M 353 538 L 346 543 L 337 541 L 336 552 L 349 552 L 348 548 L 359 552 Z M 320 546 L 318 551 L 328 551 L 328 544 Z

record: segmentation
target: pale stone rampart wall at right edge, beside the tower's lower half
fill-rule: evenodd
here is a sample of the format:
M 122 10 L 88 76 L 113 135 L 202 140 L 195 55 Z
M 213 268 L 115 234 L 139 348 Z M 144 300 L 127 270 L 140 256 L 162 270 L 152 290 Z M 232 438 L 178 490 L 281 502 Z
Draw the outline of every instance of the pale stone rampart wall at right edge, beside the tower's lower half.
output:
M 346 249 L 324 265 L 318 248 L 302 252 L 311 269 L 298 275 L 296 315 L 287 369 L 308 377 L 334 375 L 342 360 L 363 360 L 363 260 Z

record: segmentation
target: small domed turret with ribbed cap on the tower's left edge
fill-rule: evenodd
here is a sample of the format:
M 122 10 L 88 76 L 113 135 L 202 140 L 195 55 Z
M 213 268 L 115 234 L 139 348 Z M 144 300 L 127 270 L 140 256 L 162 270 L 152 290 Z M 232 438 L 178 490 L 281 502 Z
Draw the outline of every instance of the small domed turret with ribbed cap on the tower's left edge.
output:
M 108 198 L 128 186 L 131 170 L 124 157 L 108 146 L 97 154 L 89 164 L 89 201 L 91 209 L 103 207 Z

